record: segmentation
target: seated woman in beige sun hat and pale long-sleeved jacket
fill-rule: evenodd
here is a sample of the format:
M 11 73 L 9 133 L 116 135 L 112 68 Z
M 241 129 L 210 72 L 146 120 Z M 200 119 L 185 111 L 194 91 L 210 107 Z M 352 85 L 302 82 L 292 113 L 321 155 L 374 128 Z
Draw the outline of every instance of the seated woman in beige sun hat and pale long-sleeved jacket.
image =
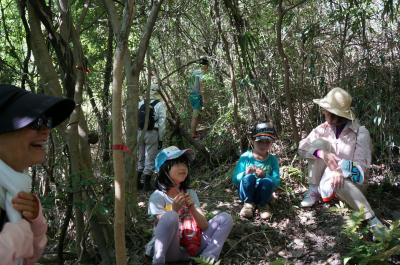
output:
M 335 87 L 313 102 L 321 107 L 325 122 L 299 144 L 300 156 L 309 160 L 309 190 L 301 206 L 311 207 L 320 198 L 328 202 L 337 196 L 355 210 L 364 208 L 365 219 L 372 227 L 380 227 L 360 190 L 371 164 L 371 138 L 351 109 L 351 95 Z

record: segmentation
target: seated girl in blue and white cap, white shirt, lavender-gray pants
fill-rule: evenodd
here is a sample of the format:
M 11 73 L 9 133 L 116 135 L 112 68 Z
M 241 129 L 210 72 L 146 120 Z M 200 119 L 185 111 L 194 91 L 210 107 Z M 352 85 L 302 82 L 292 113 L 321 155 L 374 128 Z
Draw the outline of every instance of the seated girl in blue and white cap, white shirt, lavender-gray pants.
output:
M 196 192 L 190 188 L 191 149 L 170 146 L 156 157 L 156 190 L 149 199 L 148 212 L 154 217 L 153 238 L 146 245 L 152 264 L 187 261 L 190 256 L 217 260 L 233 221 L 219 213 L 207 221 Z

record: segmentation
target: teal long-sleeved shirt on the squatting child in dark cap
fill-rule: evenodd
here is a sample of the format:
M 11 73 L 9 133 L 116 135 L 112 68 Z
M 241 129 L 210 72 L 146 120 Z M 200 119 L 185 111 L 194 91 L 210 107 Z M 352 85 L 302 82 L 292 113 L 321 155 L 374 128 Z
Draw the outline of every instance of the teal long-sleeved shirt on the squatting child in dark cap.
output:
M 265 172 L 265 177 L 270 178 L 275 184 L 275 189 L 279 186 L 281 178 L 279 176 L 279 162 L 275 155 L 268 154 L 264 160 L 257 160 L 253 156 L 253 151 L 249 150 L 243 153 L 236 164 L 235 170 L 232 175 L 232 182 L 236 186 L 239 185 L 240 180 L 246 175 L 246 168 L 249 166 L 256 166 Z M 257 183 L 259 182 L 257 178 Z

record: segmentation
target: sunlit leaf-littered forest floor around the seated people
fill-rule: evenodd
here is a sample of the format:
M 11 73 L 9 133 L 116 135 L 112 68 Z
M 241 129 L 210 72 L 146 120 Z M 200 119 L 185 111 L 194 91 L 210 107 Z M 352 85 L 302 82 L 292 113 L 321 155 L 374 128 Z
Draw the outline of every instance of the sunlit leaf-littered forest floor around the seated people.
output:
M 230 213 L 234 227 L 221 253 L 220 264 L 343 264 L 349 252 L 349 239 L 343 226 L 351 211 L 339 201 L 329 205 L 318 203 L 312 208 L 300 208 L 306 191 L 306 181 L 299 165 L 294 173 L 282 166 L 282 185 L 271 202 L 271 217 L 262 220 L 259 215 L 247 220 L 239 217 L 241 204 L 230 174 L 234 164 L 223 165 L 212 172 L 200 168 L 194 172 L 192 187 L 197 191 L 202 208 L 211 217 L 219 211 Z M 293 168 L 292 168 L 293 169 Z M 292 173 L 289 174 L 288 172 Z M 388 174 L 392 181 L 387 183 Z M 389 226 L 400 219 L 400 183 L 392 171 L 373 166 L 367 198 L 376 215 Z M 141 194 L 141 216 L 146 218 L 149 193 Z M 139 218 L 140 219 L 140 218 Z M 144 257 L 143 246 L 151 237 L 151 223 L 138 220 L 134 252 L 130 264 L 150 264 Z M 139 228 L 141 227 L 141 228 Z M 132 253 L 131 252 L 131 253 Z M 400 264 L 395 258 L 391 264 Z

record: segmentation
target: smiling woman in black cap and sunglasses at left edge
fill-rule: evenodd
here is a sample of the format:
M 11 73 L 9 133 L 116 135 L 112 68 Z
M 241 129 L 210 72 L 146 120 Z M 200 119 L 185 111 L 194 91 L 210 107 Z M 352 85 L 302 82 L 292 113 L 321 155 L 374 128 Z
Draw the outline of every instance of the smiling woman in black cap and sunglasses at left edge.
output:
M 0 264 L 34 264 L 47 223 L 24 171 L 45 160 L 50 130 L 71 114 L 73 100 L 0 85 Z

